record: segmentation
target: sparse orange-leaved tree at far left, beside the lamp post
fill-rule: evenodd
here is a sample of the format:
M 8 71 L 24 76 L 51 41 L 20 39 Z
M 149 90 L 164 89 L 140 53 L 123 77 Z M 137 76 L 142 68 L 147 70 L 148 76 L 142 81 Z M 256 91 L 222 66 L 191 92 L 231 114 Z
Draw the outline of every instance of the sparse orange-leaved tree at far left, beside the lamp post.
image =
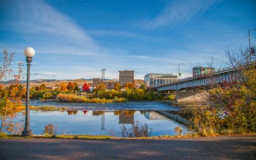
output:
M 3 63 L 0 66 L 0 81 L 4 84 L 1 86 L 0 132 L 3 132 L 4 127 L 6 127 L 7 131 L 12 132 L 15 127 L 12 120 L 17 115 L 17 112 L 22 111 L 22 108 L 20 108 L 20 99 L 24 93 L 24 88 L 20 85 L 22 63 L 19 63 L 17 74 L 15 74 L 11 68 L 13 57 L 14 53 L 9 53 L 7 50 L 3 51 Z

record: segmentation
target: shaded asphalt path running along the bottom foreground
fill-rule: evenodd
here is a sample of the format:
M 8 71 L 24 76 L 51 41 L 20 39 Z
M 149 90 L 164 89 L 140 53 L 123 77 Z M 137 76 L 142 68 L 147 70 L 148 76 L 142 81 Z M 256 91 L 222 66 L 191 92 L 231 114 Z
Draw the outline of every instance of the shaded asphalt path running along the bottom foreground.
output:
M 157 140 L 0 139 L 0 159 L 256 159 L 256 135 Z

